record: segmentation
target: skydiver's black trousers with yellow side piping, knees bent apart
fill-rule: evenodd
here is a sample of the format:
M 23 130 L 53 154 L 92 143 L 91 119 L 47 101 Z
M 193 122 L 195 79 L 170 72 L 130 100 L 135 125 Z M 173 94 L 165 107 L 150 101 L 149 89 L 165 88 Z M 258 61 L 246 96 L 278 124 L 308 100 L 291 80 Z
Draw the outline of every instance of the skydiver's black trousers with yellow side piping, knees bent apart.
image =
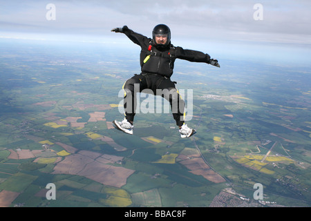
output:
M 157 74 L 141 73 L 126 80 L 124 90 L 124 112 L 128 121 L 133 122 L 137 106 L 137 93 L 153 93 L 169 101 L 176 125 L 185 122 L 185 102 L 180 97 L 175 83 L 167 77 Z

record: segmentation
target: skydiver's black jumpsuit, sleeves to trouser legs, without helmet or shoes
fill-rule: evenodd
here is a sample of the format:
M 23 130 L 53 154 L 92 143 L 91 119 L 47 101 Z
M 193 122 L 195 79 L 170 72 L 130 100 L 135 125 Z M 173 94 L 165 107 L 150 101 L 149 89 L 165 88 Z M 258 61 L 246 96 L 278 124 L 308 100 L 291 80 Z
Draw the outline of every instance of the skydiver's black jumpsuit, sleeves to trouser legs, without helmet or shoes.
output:
M 209 55 L 196 50 L 174 47 L 171 44 L 166 47 L 157 47 L 152 39 L 133 32 L 127 26 L 123 27 L 123 32 L 142 49 L 140 52 L 142 73 L 128 79 L 123 86 L 126 119 L 133 122 L 137 105 L 135 93 L 150 89 L 153 95 L 159 95 L 158 92 L 162 91 L 160 95 L 169 101 L 176 124 L 182 126 L 185 122 L 185 102 L 178 94 L 175 82 L 170 79 L 173 74 L 174 61 L 178 58 L 209 64 Z

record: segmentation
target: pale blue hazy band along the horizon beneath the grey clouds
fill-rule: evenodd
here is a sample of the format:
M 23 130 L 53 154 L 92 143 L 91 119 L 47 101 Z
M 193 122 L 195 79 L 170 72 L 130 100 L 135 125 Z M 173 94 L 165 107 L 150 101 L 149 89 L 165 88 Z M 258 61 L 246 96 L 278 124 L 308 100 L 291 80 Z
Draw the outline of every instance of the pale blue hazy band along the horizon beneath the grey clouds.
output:
M 54 46 L 69 46 L 78 45 L 84 48 L 85 46 L 102 46 L 104 48 L 122 48 L 131 50 L 131 53 L 136 53 L 139 57 L 140 47 L 133 44 L 126 35 L 121 33 L 113 33 L 119 35 L 117 37 L 77 37 L 74 35 L 0 35 L 0 41 L 15 40 L 28 41 L 28 44 L 46 44 Z M 178 44 L 174 44 L 174 43 Z M 172 39 L 174 46 L 181 46 L 184 49 L 199 50 L 211 56 L 211 58 L 218 59 L 221 66 L 221 60 L 235 60 L 235 61 L 258 61 L 265 64 L 276 66 L 292 66 L 310 67 L 311 50 L 308 45 L 304 44 L 273 44 L 273 43 L 254 43 L 241 41 L 215 41 L 213 44 L 208 42 L 185 41 L 182 44 L 182 39 Z M 13 43 L 13 41 L 12 41 Z M 117 53 L 117 51 L 116 51 Z M 124 57 L 125 59 L 126 57 Z

